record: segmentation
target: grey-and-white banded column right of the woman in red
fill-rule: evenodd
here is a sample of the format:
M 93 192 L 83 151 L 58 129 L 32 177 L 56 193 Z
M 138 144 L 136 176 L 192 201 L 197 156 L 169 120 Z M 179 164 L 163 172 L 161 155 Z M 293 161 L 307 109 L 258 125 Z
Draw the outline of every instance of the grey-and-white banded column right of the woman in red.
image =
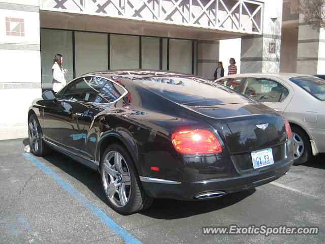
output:
M 263 35 L 243 36 L 241 73 L 279 72 L 282 1 L 264 4 Z

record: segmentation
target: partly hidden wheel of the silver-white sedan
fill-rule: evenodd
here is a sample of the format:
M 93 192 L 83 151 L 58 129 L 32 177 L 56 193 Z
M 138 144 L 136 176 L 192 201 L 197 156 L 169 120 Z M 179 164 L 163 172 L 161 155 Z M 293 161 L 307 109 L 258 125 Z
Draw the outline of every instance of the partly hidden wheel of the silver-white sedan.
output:
M 306 132 L 296 126 L 291 127 L 294 139 L 294 165 L 306 163 L 312 156 L 310 139 Z

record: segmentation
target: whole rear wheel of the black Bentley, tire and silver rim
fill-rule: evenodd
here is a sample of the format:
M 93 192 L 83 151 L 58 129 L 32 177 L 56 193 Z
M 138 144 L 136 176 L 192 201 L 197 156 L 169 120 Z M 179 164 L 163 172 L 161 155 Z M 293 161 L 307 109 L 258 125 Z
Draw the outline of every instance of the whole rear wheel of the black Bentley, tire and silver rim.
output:
M 143 210 L 153 201 L 141 185 L 133 158 L 121 143 L 114 143 L 105 150 L 101 178 L 109 205 L 122 215 Z

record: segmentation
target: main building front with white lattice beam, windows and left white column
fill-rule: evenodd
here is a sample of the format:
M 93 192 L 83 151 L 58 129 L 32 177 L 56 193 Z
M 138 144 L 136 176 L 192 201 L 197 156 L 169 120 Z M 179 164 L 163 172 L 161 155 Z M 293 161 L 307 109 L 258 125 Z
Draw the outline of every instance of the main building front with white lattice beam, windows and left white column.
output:
M 0 139 L 27 136 L 29 104 L 52 87 L 56 53 L 67 81 L 124 68 L 212 79 L 219 41 L 241 38 L 242 73 L 278 72 L 281 13 L 281 0 L 3 0 Z

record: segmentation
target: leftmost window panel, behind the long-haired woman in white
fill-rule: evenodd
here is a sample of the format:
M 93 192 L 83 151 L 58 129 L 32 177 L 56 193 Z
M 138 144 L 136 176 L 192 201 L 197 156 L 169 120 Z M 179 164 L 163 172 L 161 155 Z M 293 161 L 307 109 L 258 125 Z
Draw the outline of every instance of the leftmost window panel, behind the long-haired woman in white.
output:
M 68 82 L 73 80 L 72 32 L 41 29 L 40 37 L 42 89 L 52 89 L 52 66 L 57 53 L 63 55 L 62 67 L 68 70 L 64 77 Z

